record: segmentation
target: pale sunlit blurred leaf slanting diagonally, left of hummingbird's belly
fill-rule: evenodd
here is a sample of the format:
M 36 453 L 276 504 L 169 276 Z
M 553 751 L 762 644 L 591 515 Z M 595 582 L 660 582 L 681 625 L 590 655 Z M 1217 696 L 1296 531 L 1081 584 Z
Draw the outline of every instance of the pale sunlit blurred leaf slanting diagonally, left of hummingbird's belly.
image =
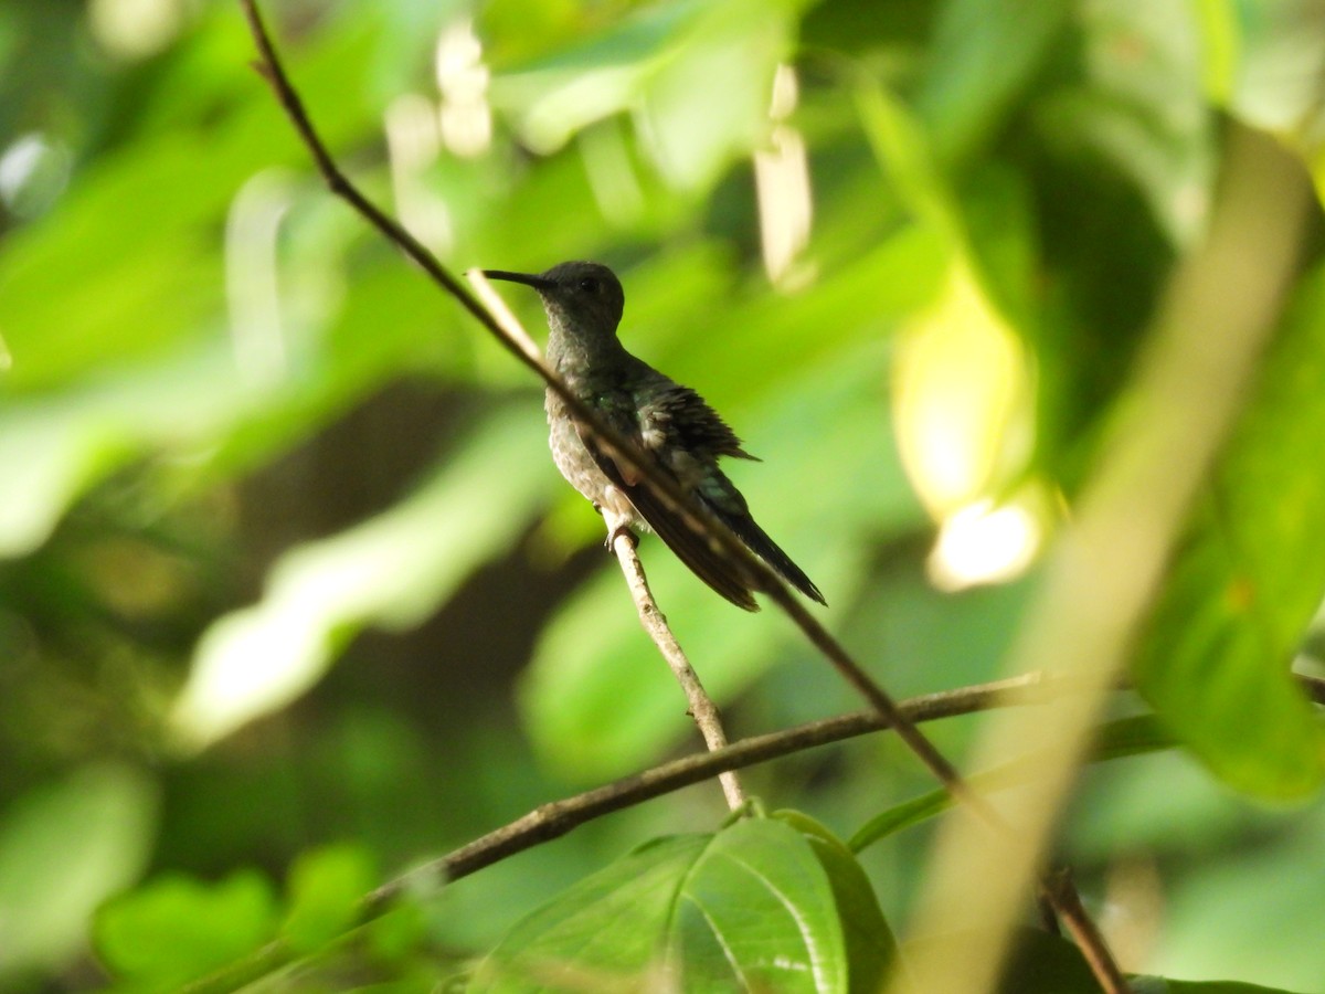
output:
M 413 496 L 331 538 L 288 553 L 264 599 L 217 620 L 175 704 L 199 746 L 311 687 L 367 624 L 417 624 L 481 562 L 506 549 L 543 500 L 542 433 L 527 411 L 496 417 Z

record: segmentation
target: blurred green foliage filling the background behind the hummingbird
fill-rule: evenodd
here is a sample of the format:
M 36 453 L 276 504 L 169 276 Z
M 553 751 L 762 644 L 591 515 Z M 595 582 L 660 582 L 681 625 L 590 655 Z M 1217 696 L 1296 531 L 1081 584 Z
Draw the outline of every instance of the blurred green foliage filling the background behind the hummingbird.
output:
M 755 514 L 902 696 L 999 672 L 1034 567 L 939 590 L 935 529 L 987 504 L 1052 541 L 1228 131 L 1325 188 L 1320 0 L 265 9 L 453 270 L 621 274 L 628 346 L 765 460 L 733 470 Z M 776 887 L 810 932 L 753 944 L 812 933 L 811 989 L 877 975 L 941 807 L 885 737 L 746 774 L 832 831 L 718 830 L 705 785 L 359 922 L 383 876 L 693 733 L 537 384 L 327 195 L 252 58 L 228 0 L 0 0 L 0 987 L 431 990 L 722 847 L 804 871 Z M 1138 973 L 1325 977 L 1325 740 L 1289 677 L 1320 665 L 1321 281 L 1317 225 L 1137 648 L 1146 745 L 1084 773 L 1059 843 Z M 734 736 L 860 706 L 774 611 L 641 554 Z M 978 721 L 933 734 L 959 757 Z M 613 954 L 708 942 L 682 926 Z M 1089 990 L 1059 953 L 1020 990 Z

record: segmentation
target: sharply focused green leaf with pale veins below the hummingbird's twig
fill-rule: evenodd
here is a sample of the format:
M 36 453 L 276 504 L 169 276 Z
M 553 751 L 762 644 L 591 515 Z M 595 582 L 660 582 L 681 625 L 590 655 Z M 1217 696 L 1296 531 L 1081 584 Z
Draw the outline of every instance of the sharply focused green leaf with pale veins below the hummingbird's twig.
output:
M 833 889 L 810 842 L 745 819 L 648 843 L 517 924 L 472 989 L 651 977 L 685 991 L 845 990 Z

